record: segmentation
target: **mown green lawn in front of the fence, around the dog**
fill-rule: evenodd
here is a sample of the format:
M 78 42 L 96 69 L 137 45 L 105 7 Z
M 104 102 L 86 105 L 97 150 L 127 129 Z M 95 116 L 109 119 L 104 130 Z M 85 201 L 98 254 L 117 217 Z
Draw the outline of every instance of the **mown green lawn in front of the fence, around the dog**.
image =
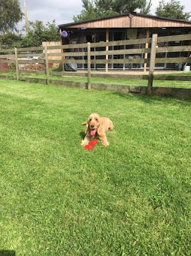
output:
M 0 255 L 190 255 L 190 101 L 1 79 L 0 107 Z

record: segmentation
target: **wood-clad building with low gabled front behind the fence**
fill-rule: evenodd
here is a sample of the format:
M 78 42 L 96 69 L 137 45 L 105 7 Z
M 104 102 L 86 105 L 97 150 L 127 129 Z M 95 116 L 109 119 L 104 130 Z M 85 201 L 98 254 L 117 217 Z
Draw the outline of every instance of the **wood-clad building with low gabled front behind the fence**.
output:
M 82 44 L 82 43 L 98 43 L 101 41 L 118 41 L 118 40 L 133 40 L 137 38 L 149 38 L 152 34 L 158 34 L 158 37 L 169 35 L 191 34 L 191 22 L 177 19 L 168 19 L 165 17 L 150 16 L 139 13 L 119 14 L 115 16 L 103 17 L 100 19 L 86 20 L 84 22 L 73 22 L 58 26 L 60 34 L 63 31 L 67 32 L 67 37 L 61 37 L 61 43 L 64 44 Z M 190 41 L 174 41 L 168 43 L 160 43 L 162 46 L 181 46 L 190 44 Z M 134 44 L 125 46 L 110 46 L 109 50 L 122 49 L 137 49 L 144 48 L 144 44 Z M 81 49 L 83 51 L 83 49 Z M 96 47 L 95 51 L 105 50 L 105 47 Z M 156 58 L 169 58 L 189 56 L 190 53 L 158 53 Z M 82 57 L 81 57 L 82 58 Z M 105 58 L 105 56 L 96 56 L 96 59 Z M 144 58 L 140 55 L 112 55 L 112 59 L 123 58 Z M 155 68 L 174 69 L 175 64 L 156 64 Z M 96 64 L 92 68 L 95 70 L 104 69 L 105 64 Z M 79 69 L 86 69 L 86 64 L 79 64 Z M 128 65 L 128 64 L 109 64 L 109 69 L 126 70 L 129 68 L 142 69 L 143 65 Z

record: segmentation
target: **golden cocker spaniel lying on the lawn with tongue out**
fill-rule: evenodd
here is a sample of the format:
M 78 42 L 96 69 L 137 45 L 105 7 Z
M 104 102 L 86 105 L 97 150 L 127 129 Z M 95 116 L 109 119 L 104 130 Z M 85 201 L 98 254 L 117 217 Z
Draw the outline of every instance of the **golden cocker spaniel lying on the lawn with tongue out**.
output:
M 101 144 L 104 146 L 109 145 L 106 138 L 106 131 L 112 131 L 113 129 L 113 123 L 109 118 L 104 118 L 93 113 L 88 117 L 86 122 L 82 123 L 82 125 L 86 125 L 87 127 L 85 130 L 85 138 L 81 143 L 82 146 L 88 145 L 92 137 L 99 138 L 101 140 Z

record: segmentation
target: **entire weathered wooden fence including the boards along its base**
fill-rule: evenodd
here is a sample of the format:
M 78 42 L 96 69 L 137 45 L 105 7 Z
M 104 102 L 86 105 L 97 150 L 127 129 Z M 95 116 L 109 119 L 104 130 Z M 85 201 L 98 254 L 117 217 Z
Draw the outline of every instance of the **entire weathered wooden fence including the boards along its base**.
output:
M 157 34 L 153 34 L 152 38 L 142 38 L 137 40 L 121 40 L 121 41 L 107 41 L 100 43 L 84 43 L 84 44 L 66 44 L 60 46 L 44 46 L 44 47 L 29 47 L 29 48 L 15 48 L 15 49 L 0 49 L 0 72 L 4 73 L 7 71 L 8 65 L 11 67 L 9 71 L 16 72 L 16 77 L 12 77 L 17 80 L 30 80 L 29 77 L 21 77 L 21 73 L 37 73 L 46 74 L 46 79 L 33 78 L 33 82 L 37 80 L 43 83 L 49 84 L 54 83 L 56 85 L 68 85 L 68 86 L 80 86 L 87 89 L 107 89 L 107 90 L 118 90 L 122 92 L 134 92 L 136 94 L 144 95 L 174 95 L 185 98 L 191 98 L 191 89 L 181 88 L 153 88 L 153 80 L 181 80 L 191 81 L 190 76 L 162 76 L 155 75 L 155 65 L 161 63 L 167 64 L 185 64 L 185 67 L 190 67 L 191 63 L 190 53 L 191 46 L 189 42 L 191 40 L 191 34 L 186 35 L 172 35 L 167 37 L 158 37 Z M 182 41 L 181 46 L 168 46 L 169 42 Z M 161 43 L 167 46 L 160 47 Z M 125 46 L 140 45 L 138 49 L 125 49 Z M 124 47 L 121 50 L 118 47 Z M 144 47 L 143 47 L 144 46 Z M 98 49 L 98 50 L 97 50 Z M 99 50 L 101 49 L 101 50 Z M 104 50 L 103 50 L 104 49 Z M 60 52 L 53 52 L 54 50 Z M 160 58 L 160 53 L 179 53 L 180 57 L 175 58 Z M 143 56 L 143 58 L 133 58 L 129 56 Z M 184 55 L 181 56 L 181 55 Z M 185 57 L 187 55 L 187 57 Z M 34 57 L 35 56 L 35 57 Z M 98 59 L 101 56 L 101 59 Z M 124 56 L 123 58 L 114 59 L 113 56 Z M 177 54 L 176 54 L 177 56 Z M 72 57 L 72 58 L 71 58 Z M 44 66 L 44 70 L 34 71 L 30 68 L 30 65 L 37 64 Z M 50 71 L 52 65 L 86 65 L 86 73 L 78 72 L 67 72 L 63 71 L 56 72 Z M 104 64 L 104 71 L 101 74 L 96 73 L 93 70 L 93 65 Z M 149 74 L 112 74 L 108 73 L 109 65 L 114 64 L 127 64 L 131 67 L 136 65 L 144 65 L 144 68 L 149 68 Z M 23 70 L 23 67 L 28 65 L 28 70 Z M 144 69 L 145 70 L 145 69 Z M 66 82 L 63 80 L 50 79 L 50 75 L 57 76 L 87 76 L 87 83 L 75 83 Z M 7 77 L 1 75 L 0 77 Z M 10 76 L 8 76 L 10 77 Z M 119 85 L 103 85 L 91 83 L 91 77 L 117 77 L 127 79 L 147 79 L 146 86 L 119 86 Z M 10 77 L 11 78 L 11 77 Z

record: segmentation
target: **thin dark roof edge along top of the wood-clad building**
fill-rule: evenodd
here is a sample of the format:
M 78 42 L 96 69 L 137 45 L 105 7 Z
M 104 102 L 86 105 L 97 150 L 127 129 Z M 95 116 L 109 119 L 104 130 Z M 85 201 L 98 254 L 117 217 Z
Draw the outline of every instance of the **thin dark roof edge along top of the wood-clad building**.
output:
M 131 12 L 131 13 L 122 13 L 122 14 L 117 14 L 117 15 L 112 15 L 112 16 L 101 17 L 101 18 L 92 19 L 92 20 L 84 20 L 82 22 L 66 23 L 66 24 L 58 25 L 58 27 L 61 28 L 61 27 L 67 27 L 67 26 L 72 26 L 72 25 L 85 24 L 88 22 L 94 22 L 94 21 L 96 22 L 98 20 L 112 19 L 112 18 L 122 17 L 122 16 L 129 16 L 130 14 L 133 14 L 134 16 L 142 16 L 142 17 L 147 17 L 147 18 L 152 18 L 152 19 L 154 18 L 154 19 L 170 20 L 170 21 L 174 21 L 174 22 L 182 22 L 182 23 L 187 23 L 187 24 L 191 25 L 191 22 L 187 22 L 186 20 L 171 19 L 171 18 L 167 18 L 167 17 L 160 17 L 160 16 L 153 16 L 153 15 L 146 15 L 146 14 Z

